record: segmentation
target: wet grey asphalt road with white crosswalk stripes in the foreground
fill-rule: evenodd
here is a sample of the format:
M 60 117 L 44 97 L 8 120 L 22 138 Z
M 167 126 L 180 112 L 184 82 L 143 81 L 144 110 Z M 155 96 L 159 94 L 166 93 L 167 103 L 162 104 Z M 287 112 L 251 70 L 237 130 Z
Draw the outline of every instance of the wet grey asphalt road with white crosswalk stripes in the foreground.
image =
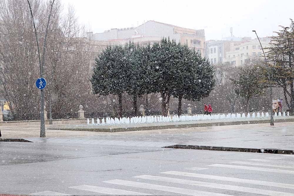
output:
M 294 155 L 18 142 L 0 142 L 0 151 L 0 193 L 294 195 L 294 185 L 289 185 L 294 184 Z M 177 175 L 161 173 L 169 171 Z M 188 176 L 178 175 L 181 172 Z M 166 178 L 154 180 L 152 176 Z M 225 177 L 232 180 L 225 181 Z

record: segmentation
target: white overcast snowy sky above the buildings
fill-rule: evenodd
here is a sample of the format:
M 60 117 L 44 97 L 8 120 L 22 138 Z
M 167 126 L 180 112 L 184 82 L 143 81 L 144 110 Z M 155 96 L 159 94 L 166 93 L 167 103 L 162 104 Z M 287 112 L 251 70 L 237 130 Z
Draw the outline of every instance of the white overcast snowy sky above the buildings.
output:
M 294 19 L 293 0 L 61 0 L 74 5 L 79 22 L 93 33 L 136 27 L 155 20 L 190 29 L 204 29 L 206 40 L 230 36 L 272 36 Z

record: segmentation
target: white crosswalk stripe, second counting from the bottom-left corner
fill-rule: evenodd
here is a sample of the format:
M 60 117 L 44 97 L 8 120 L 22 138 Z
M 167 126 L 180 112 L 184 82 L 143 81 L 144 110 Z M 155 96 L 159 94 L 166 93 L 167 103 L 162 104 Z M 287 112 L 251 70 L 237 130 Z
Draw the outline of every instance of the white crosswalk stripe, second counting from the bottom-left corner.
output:
M 92 192 L 99 192 L 109 195 L 151 195 L 141 192 L 134 192 L 128 190 L 120 190 L 120 189 L 113 189 L 113 188 L 106 188 L 106 187 L 98 187 L 98 186 L 91 186 L 91 185 L 79 185 L 74 187 L 69 187 L 72 189 L 79 189 L 79 190 L 86 190 Z

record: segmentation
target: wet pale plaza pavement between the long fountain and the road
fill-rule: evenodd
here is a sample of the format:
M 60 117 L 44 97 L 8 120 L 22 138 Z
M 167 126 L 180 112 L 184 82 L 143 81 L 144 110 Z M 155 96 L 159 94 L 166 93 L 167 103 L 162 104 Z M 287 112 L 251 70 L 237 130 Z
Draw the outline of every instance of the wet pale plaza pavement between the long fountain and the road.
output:
M 40 143 L 80 143 L 88 145 L 156 146 L 201 145 L 231 148 L 275 148 L 294 150 L 294 122 L 226 125 L 195 128 L 92 132 L 49 130 L 39 138 L 39 125 L 1 126 L 2 138 L 23 138 Z

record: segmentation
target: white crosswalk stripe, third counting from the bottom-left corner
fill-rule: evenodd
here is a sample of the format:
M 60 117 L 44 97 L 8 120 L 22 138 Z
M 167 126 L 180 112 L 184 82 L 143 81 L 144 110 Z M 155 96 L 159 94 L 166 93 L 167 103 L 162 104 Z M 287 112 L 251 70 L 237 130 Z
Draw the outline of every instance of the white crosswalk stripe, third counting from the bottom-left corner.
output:
M 160 190 L 166 192 L 173 192 L 178 194 L 185 194 L 185 195 L 193 195 L 193 196 L 228 196 L 226 194 L 221 193 L 214 193 L 214 192 L 206 192 L 200 190 L 192 190 L 192 189 L 184 189 L 178 187 L 170 187 L 170 186 L 163 186 L 163 185 L 155 185 L 155 184 L 148 184 L 143 182 L 134 182 L 128 180 L 108 180 L 104 181 L 106 183 L 116 184 L 116 185 L 124 185 L 130 187 L 137 187 L 137 188 L 145 188 L 145 189 L 153 189 L 153 190 Z M 232 195 L 230 195 L 232 196 Z

